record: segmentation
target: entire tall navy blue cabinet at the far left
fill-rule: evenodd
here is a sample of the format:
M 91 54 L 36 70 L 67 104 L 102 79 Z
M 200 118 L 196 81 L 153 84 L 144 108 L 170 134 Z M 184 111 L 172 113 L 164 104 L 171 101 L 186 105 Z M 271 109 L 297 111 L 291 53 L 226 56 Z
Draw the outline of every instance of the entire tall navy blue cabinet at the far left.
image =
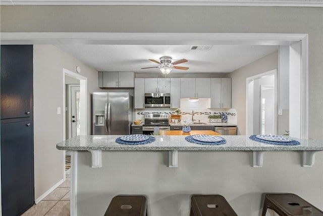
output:
M 33 46 L 1 46 L 2 215 L 34 204 Z

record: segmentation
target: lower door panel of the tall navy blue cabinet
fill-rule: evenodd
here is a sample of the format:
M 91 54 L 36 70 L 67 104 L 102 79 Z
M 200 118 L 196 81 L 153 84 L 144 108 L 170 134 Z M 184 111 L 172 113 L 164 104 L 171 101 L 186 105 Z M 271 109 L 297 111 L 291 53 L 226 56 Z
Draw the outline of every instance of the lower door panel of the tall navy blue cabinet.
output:
M 1 124 L 2 214 L 20 215 L 34 203 L 32 121 Z M 27 126 L 27 125 L 30 126 Z

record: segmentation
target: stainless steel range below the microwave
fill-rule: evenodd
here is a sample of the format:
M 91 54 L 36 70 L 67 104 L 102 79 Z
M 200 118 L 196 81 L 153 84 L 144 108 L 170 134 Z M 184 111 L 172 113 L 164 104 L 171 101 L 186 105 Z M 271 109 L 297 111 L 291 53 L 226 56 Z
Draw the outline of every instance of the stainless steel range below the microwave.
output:
M 143 134 L 159 133 L 159 130 L 169 131 L 169 114 L 145 114 L 145 123 L 142 126 Z

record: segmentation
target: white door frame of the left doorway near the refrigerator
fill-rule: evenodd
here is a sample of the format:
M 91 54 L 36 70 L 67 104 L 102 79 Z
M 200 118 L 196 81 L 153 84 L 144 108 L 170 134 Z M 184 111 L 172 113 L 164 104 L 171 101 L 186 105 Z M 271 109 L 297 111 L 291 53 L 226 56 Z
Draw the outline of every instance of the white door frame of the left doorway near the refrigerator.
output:
M 81 124 L 80 135 L 87 135 L 88 126 L 88 109 L 87 109 L 87 77 L 72 72 L 68 69 L 63 68 L 63 139 L 66 137 L 66 84 L 65 75 L 80 80 L 80 120 L 84 123 Z M 63 179 L 66 180 L 65 172 L 65 156 L 66 151 L 63 151 Z

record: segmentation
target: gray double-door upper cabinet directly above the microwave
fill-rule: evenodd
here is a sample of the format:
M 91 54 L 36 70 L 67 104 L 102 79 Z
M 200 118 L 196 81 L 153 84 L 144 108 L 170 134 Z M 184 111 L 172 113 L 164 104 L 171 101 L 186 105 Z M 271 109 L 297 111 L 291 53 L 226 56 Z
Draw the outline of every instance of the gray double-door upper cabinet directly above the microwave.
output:
M 145 78 L 145 93 L 171 93 L 170 78 Z

